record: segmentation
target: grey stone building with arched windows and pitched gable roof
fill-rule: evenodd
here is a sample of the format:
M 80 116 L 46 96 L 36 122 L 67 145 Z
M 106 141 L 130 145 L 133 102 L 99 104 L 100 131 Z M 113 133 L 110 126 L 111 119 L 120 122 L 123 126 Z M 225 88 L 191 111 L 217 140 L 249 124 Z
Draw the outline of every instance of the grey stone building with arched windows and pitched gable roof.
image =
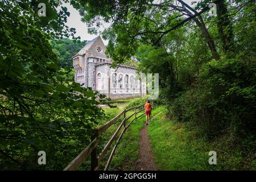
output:
M 72 57 L 75 82 L 112 99 L 145 96 L 146 82 L 138 79 L 137 69 L 129 65 L 110 68 L 112 61 L 105 50 L 101 36 L 97 36 Z

